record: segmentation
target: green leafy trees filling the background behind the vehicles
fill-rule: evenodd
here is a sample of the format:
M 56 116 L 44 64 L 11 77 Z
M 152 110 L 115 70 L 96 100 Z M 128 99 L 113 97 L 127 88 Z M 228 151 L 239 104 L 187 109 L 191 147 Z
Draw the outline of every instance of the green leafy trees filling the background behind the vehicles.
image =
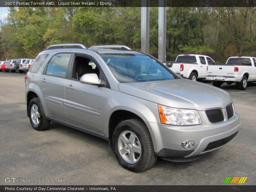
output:
M 225 62 L 256 54 L 255 7 L 168 7 L 167 60 L 198 53 Z M 51 44 L 124 44 L 140 51 L 140 7 L 10 7 L 0 22 L 1 60 L 35 57 Z M 158 55 L 158 7 L 150 7 L 149 53 Z

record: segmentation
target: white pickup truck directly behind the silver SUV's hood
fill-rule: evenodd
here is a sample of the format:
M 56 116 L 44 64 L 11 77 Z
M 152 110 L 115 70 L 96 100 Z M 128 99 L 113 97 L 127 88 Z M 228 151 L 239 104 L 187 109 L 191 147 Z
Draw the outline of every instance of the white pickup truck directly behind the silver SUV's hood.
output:
M 205 79 L 208 65 L 214 64 L 215 62 L 209 56 L 196 54 L 178 55 L 175 62 L 166 62 L 166 66 L 175 73 L 192 81 Z

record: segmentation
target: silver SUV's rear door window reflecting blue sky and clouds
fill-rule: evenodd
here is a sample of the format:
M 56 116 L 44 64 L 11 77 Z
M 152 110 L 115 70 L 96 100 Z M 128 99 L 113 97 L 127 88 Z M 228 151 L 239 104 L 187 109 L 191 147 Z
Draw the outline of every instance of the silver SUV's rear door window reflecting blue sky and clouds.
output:
M 66 77 L 70 56 L 71 53 L 60 53 L 54 55 L 47 64 L 46 74 L 58 77 Z

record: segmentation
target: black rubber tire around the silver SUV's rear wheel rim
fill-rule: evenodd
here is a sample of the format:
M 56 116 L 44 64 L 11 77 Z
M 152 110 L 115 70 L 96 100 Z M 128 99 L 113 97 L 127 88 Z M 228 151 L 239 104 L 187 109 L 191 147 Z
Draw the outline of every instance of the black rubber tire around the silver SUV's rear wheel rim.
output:
M 33 105 L 36 105 L 40 114 L 39 123 L 36 125 L 33 123 L 32 117 L 31 117 L 31 108 Z M 49 128 L 51 121 L 46 119 L 46 116 L 44 115 L 44 110 L 42 107 L 42 104 L 39 100 L 39 98 L 33 98 L 28 105 L 28 116 L 30 120 L 30 124 L 32 127 L 37 131 L 43 131 Z

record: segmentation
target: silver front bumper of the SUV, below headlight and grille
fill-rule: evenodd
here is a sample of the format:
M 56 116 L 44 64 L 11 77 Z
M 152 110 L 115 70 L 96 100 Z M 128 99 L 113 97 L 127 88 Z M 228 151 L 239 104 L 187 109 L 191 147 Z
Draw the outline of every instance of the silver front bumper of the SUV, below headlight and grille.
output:
M 240 116 L 236 113 L 231 120 L 223 123 L 204 123 L 194 126 L 172 126 L 167 124 L 149 123 L 154 135 L 153 144 L 155 154 L 160 157 L 191 157 L 212 152 L 222 146 L 205 150 L 211 142 L 228 138 L 235 134 L 240 128 Z M 181 143 L 184 140 L 193 140 L 195 146 L 192 149 L 183 149 Z

